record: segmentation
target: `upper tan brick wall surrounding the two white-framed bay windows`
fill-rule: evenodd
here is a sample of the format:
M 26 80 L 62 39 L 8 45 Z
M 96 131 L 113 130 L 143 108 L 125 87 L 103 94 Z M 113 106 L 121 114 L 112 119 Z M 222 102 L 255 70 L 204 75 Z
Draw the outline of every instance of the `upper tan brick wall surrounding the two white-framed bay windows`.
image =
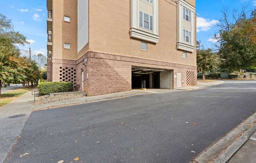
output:
M 141 51 L 141 40 L 130 38 L 130 0 L 89 2 L 89 49 L 166 62 L 196 65 L 196 53 L 176 50 L 177 6 L 173 0 L 159 0 L 159 43 L 148 43 Z M 114 8 L 115 10 L 110 10 Z

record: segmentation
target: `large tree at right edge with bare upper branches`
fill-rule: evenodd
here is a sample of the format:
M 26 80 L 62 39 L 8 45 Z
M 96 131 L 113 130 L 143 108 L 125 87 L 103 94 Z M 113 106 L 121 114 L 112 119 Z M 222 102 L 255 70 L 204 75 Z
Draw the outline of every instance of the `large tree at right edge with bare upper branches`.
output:
M 222 11 L 222 18 L 217 26 L 219 33 L 215 46 L 221 57 L 221 68 L 225 71 L 251 69 L 256 65 L 256 10 L 251 18 L 245 16 L 246 7 L 241 11 L 233 10 L 230 16 L 227 9 Z

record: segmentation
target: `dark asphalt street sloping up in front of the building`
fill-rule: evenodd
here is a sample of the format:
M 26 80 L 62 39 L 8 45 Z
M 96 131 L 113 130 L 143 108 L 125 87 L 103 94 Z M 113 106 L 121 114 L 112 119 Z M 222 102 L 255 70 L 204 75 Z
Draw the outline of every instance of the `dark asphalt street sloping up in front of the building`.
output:
M 5 163 L 188 163 L 251 116 L 255 99 L 255 81 L 227 81 L 33 112 Z

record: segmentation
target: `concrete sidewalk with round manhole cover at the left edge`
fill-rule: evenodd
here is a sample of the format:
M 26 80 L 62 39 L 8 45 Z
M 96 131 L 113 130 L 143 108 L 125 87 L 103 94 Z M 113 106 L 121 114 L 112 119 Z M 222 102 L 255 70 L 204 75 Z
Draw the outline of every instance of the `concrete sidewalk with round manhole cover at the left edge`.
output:
M 22 132 L 34 107 L 33 102 L 34 96 L 29 91 L 4 107 L 0 107 L 0 163 L 4 161 Z

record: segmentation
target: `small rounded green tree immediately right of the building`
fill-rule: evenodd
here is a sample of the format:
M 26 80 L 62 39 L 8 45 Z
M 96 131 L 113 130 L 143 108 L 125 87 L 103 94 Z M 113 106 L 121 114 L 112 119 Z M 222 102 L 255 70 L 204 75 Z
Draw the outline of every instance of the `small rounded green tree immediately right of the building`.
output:
M 197 42 L 197 45 L 200 43 Z M 206 73 L 216 72 L 219 67 L 219 56 L 212 52 L 212 49 L 204 49 L 197 46 L 197 72 L 203 74 L 205 80 Z

